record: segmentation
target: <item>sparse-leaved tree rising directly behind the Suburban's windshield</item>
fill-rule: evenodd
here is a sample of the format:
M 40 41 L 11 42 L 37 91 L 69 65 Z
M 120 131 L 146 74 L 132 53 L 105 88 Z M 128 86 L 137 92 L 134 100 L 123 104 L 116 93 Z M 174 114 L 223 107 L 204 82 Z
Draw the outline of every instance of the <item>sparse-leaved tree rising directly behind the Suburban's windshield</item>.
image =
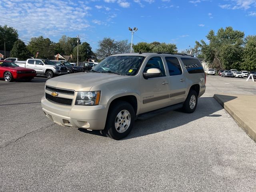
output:
M 103 40 L 99 41 L 99 48 L 96 50 L 97 58 L 103 59 L 110 55 L 116 54 L 117 52 L 117 44 L 114 39 L 111 38 L 103 38 Z

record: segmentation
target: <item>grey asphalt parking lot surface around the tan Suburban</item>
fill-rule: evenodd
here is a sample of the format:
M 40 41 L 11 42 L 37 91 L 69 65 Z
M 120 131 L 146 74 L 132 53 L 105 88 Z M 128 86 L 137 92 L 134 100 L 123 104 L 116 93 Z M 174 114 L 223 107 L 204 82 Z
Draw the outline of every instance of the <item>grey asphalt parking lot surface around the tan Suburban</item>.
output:
M 46 78 L 0 80 L 0 191 L 256 191 L 256 143 L 212 98 L 256 82 L 208 76 L 194 113 L 137 120 L 116 141 L 59 126 L 40 106 Z

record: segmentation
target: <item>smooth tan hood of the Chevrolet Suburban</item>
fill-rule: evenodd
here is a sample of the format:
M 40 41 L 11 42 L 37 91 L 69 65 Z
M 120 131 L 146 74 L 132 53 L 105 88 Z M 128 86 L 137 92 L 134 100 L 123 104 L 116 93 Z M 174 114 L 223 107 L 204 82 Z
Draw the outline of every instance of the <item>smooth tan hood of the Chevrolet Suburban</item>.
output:
M 130 76 L 110 73 L 82 72 L 51 78 L 46 81 L 46 85 L 75 91 L 90 91 L 93 86 L 96 86 L 98 84 L 103 84 L 106 82 L 121 80 L 125 78 L 130 78 Z

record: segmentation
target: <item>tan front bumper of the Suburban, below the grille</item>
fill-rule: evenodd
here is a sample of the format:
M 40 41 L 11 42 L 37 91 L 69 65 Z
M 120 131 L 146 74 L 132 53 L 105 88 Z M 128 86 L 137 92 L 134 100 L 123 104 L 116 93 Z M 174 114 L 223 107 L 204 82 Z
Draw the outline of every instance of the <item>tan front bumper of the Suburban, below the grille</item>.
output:
M 63 106 L 48 101 L 45 96 L 41 100 L 44 114 L 53 122 L 62 126 L 103 130 L 108 108 L 97 106 Z

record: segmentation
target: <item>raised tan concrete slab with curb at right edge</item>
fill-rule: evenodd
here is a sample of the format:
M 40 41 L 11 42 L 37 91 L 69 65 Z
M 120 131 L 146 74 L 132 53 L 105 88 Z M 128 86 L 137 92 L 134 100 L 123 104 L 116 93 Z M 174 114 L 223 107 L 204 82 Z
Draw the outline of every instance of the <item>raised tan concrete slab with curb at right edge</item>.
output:
M 214 94 L 213 97 L 256 142 L 256 96 Z

